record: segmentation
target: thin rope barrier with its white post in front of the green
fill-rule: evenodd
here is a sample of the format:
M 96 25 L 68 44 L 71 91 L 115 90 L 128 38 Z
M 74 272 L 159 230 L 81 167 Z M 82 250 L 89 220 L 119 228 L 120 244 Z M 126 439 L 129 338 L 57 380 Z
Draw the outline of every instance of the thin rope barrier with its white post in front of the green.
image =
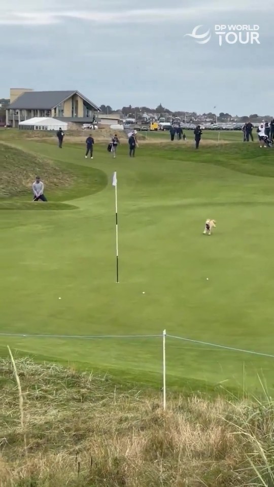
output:
M 40 335 L 40 334 L 28 334 L 28 333 L 0 333 L 3 337 L 20 337 L 20 338 L 63 338 L 63 339 L 85 339 L 96 340 L 102 338 L 162 338 L 162 362 L 163 362 L 163 409 L 166 409 L 166 341 L 167 338 L 173 338 L 175 340 L 183 340 L 185 342 L 196 343 L 199 345 L 212 346 L 213 348 L 229 350 L 231 352 L 241 352 L 251 355 L 257 355 L 260 357 L 274 358 L 274 355 L 266 354 L 262 352 L 254 352 L 252 350 L 237 349 L 232 346 L 220 345 L 217 343 L 210 343 L 207 341 L 193 340 L 191 338 L 184 338 L 182 336 L 168 335 L 166 330 L 159 335 Z

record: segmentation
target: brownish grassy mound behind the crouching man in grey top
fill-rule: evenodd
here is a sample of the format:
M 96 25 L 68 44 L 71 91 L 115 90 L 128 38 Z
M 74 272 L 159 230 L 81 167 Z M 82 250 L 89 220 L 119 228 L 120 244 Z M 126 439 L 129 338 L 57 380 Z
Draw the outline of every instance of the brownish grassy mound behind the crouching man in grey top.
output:
M 93 194 L 104 189 L 108 183 L 105 173 L 98 169 L 87 167 L 78 170 L 68 169 L 61 161 L 52 161 L 0 144 L 0 198 L 14 196 L 20 198 L 26 195 L 31 197 L 31 185 L 36 175 L 39 175 L 45 183 L 46 195 L 50 194 L 51 199 L 53 197 L 57 200 Z M 3 206 L 0 206 L 1 208 Z M 51 209 L 68 208 L 60 206 Z

